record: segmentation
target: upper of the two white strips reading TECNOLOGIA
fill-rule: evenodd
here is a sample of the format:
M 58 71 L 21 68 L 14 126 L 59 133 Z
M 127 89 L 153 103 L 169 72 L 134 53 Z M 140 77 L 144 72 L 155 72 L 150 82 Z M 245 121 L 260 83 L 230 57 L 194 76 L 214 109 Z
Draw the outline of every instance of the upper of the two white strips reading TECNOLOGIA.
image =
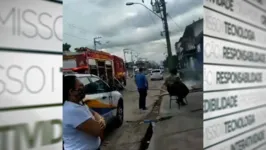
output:
M 266 31 L 204 9 L 204 34 L 266 49 Z

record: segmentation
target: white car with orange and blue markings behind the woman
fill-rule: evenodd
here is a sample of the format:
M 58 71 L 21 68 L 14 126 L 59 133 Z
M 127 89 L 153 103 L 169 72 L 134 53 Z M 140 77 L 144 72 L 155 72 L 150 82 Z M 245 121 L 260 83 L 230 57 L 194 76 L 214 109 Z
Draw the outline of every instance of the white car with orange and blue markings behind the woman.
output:
M 98 76 L 92 74 L 68 74 L 66 76 L 76 76 L 85 86 L 85 98 L 83 102 L 102 115 L 107 123 L 115 120 L 115 124 L 120 127 L 124 120 L 123 96 L 113 90 L 106 82 Z

